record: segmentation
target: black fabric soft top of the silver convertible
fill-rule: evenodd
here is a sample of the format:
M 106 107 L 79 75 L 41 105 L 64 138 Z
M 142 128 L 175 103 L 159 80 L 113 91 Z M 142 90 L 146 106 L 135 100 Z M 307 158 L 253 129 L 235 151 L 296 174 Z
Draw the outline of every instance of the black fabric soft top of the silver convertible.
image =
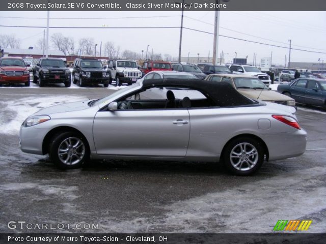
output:
M 178 86 L 193 88 L 202 92 L 210 98 L 216 105 L 221 107 L 251 105 L 255 102 L 242 94 L 227 82 L 216 82 L 199 79 L 147 79 L 143 81 L 143 87 L 155 86 Z

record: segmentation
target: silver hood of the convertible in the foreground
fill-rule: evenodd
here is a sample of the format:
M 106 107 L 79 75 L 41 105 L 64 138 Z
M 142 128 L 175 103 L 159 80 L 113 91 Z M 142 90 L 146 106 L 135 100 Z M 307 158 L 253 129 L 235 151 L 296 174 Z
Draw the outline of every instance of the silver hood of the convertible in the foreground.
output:
M 47 108 L 41 109 L 40 111 L 34 113 L 33 116 L 34 115 L 50 115 L 53 113 L 64 113 L 64 112 L 84 110 L 84 109 L 90 108 L 90 106 L 87 105 L 89 101 L 91 101 L 91 100 L 79 101 L 79 102 L 73 102 L 73 103 L 64 103 L 64 104 L 60 104 L 60 105 L 47 107 Z

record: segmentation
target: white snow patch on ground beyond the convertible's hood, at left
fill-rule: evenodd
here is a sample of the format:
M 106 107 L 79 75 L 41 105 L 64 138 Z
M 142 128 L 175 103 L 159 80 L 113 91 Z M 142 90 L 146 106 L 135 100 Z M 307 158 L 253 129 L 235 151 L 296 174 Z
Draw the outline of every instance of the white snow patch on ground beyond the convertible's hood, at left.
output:
M 33 113 L 49 106 L 88 100 L 83 96 L 28 97 L 0 102 L 0 127 L 3 134 L 17 135 L 21 123 Z

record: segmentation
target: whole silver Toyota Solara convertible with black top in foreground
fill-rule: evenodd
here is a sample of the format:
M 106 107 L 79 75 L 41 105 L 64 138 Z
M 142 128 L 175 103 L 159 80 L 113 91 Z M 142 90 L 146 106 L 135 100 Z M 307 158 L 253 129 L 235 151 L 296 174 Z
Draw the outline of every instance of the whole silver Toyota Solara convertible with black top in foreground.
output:
M 62 169 L 89 159 L 221 160 L 249 175 L 264 160 L 305 152 L 307 134 L 294 113 L 225 82 L 147 79 L 102 99 L 42 109 L 22 123 L 19 141 L 25 153 L 49 154 Z

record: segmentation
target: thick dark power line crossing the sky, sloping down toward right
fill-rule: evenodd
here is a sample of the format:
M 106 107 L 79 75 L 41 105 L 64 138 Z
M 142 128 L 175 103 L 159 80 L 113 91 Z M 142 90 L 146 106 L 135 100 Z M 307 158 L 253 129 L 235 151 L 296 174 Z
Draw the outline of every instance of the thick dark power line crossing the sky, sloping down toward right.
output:
M 0 25 L 0 27 L 21 27 L 21 28 L 45 28 L 44 26 L 22 26 L 22 25 Z M 150 26 L 150 27 L 76 27 L 76 26 L 49 26 L 49 28 L 70 28 L 70 29 L 168 29 L 168 28 L 180 28 L 180 26 Z M 199 29 L 194 29 L 194 28 L 188 28 L 188 27 L 183 27 L 184 29 L 189 29 L 191 31 L 195 32 L 201 32 L 201 33 L 206 33 L 210 35 L 214 35 L 213 33 L 210 32 L 205 32 L 205 31 L 200 31 Z M 274 44 L 268 44 L 268 43 L 263 43 L 263 42 L 256 42 L 256 41 L 251 41 L 247 39 L 241 39 L 241 38 L 236 38 L 236 37 L 229 37 L 229 36 L 224 36 L 224 35 L 219 35 L 220 37 L 225 37 L 225 38 L 230 38 L 230 39 L 235 39 L 235 40 L 240 40 L 240 41 L 245 41 L 245 42 L 251 42 L 251 43 L 256 43 L 256 44 L 261 44 L 261 45 L 266 45 L 266 46 L 272 46 L 272 47 L 279 47 L 279 48 L 286 48 L 284 46 L 278 46 Z M 317 52 L 317 51 L 309 51 L 309 50 L 304 50 L 304 49 L 297 49 L 297 48 L 291 48 L 292 50 L 297 50 L 297 51 L 305 51 L 305 52 L 313 52 L 313 53 L 321 53 L 321 54 L 326 54 L 326 52 Z

